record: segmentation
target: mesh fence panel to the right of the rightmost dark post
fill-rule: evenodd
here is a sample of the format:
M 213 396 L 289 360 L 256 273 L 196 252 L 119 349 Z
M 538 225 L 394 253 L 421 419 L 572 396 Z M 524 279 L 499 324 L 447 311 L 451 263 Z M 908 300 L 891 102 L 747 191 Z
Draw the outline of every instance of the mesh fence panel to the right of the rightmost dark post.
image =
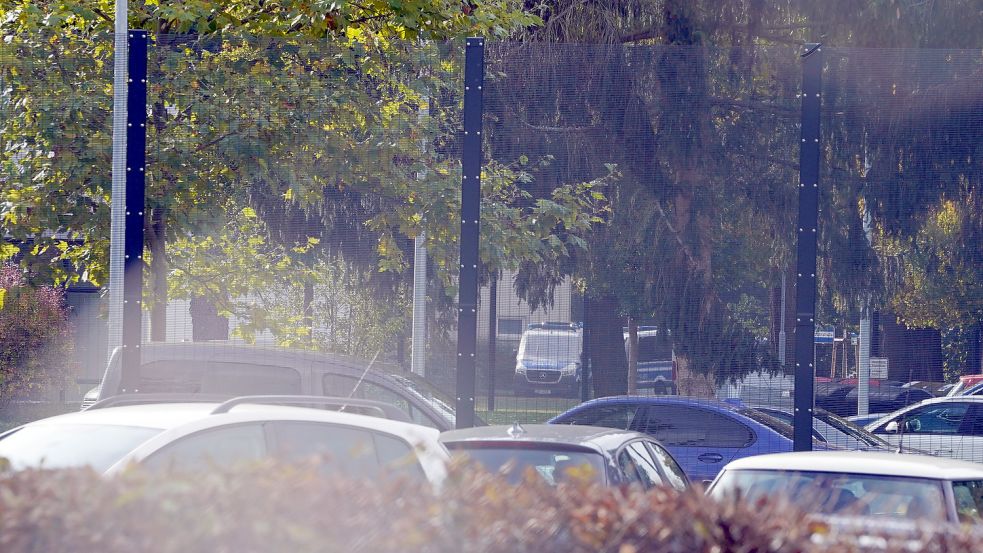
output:
M 843 415 L 920 404 L 873 431 L 895 446 L 983 461 L 972 396 L 931 399 L 981 372 L 983 58 L 826 55 L 818 307 L 830 343 L 817 345 L 817 375 L 834 381 L 817 403 Z

